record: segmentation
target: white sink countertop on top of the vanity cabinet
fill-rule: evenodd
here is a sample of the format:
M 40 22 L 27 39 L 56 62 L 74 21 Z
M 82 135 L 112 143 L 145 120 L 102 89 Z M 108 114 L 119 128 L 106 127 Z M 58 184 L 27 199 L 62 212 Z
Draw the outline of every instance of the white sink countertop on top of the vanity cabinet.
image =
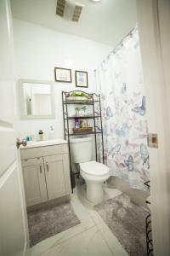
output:
M 20 149 L 24 148 L 37 148 L 37 147 L 44 147 L 44 146 L 51 146 L 51 145 L 59 145 L 59 144 L 66 144 L 67 141 L 63 139 L 55 139 L 55 140 L 47 140 L 47 141 L 41 141 L 41 142 L 27 142 L 26 147 L 20 146 Z

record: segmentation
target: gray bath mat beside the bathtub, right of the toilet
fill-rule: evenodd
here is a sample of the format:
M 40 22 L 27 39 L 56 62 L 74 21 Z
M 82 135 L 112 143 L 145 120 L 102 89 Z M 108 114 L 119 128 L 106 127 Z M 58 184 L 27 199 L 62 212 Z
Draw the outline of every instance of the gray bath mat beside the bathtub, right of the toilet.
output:
M 99 215 L 131 256 L 145 256 L 145 218 L 148 212 L 125 194 L 117 195 L 97 206 Z

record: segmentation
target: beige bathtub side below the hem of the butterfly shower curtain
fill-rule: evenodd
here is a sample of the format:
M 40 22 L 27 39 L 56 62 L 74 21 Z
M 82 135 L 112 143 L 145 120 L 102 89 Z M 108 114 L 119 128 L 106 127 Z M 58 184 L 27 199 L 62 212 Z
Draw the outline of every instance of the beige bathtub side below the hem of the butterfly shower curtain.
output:
M 145 201 L 146 198 L 150 195 L 149 192 L 147 191 L 142 191 L 139 189 L 132 189 L 129 187 L 129 184 L 126 183 L 122 178 L 120 177 L 110 177 L 108 180 L 108 186 L 114 189 L 119 189 L 121 190 L 123 193 L 127 194 L 130 199 L 138 204 L 140 207 L 144 207 L 146 209 L 148 209 Z

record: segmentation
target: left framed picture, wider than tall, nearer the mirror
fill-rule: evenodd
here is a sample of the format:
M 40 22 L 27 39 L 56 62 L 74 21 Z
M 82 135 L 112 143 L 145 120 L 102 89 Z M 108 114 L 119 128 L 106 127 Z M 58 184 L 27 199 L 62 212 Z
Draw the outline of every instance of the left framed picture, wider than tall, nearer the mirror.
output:
M 71 69 L 62 68 L 62 67 L 54 67 L 55 81 L 56 82 L 64 82 L 71 83 Z

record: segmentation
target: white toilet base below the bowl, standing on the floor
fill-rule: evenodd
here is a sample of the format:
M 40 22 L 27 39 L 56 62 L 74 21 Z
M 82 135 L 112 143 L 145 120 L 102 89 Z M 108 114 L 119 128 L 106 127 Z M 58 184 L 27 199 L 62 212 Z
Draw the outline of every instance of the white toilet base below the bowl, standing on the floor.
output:
M 104 200 L 103 183 L 87 182 L 87 199 L 94 204 L 99 204 Z

